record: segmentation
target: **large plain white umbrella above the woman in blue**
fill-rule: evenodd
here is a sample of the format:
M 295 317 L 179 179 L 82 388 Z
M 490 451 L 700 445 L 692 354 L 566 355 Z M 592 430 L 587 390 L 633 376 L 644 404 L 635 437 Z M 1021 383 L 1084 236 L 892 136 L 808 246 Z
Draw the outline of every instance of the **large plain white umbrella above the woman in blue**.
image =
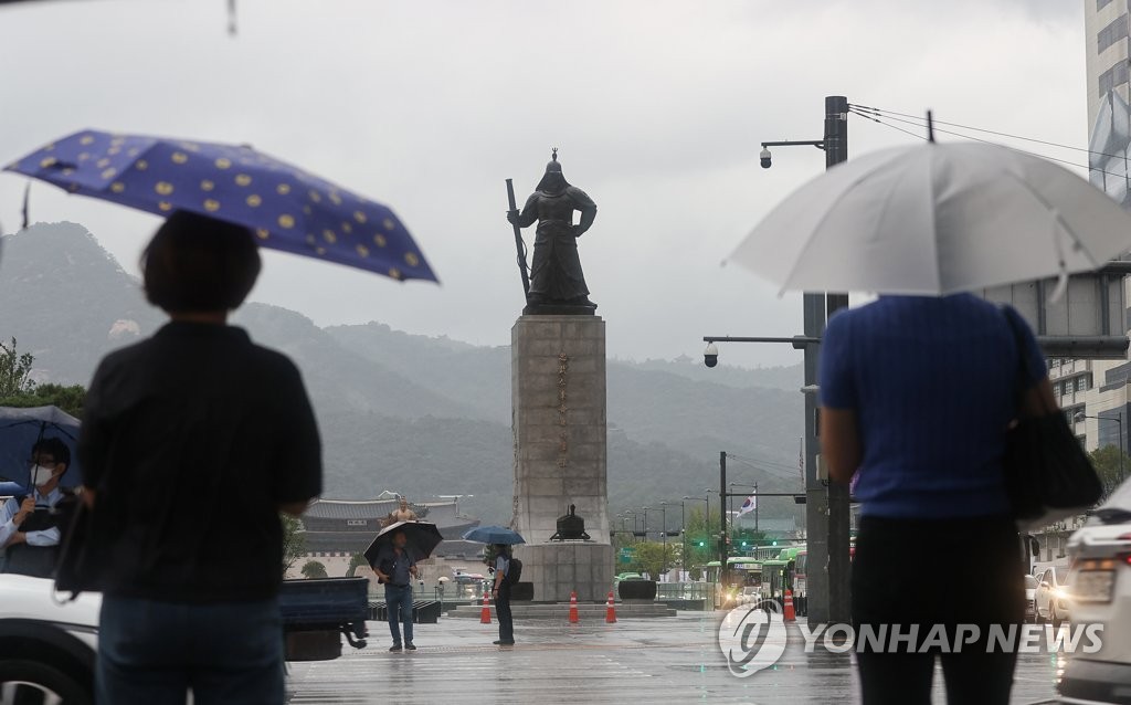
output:
M 941 295 L 1102 267 L 1131 216 L 1074 173 L 987 144 L 874 152 L 779 204 L 731 260 L 782 291 Z

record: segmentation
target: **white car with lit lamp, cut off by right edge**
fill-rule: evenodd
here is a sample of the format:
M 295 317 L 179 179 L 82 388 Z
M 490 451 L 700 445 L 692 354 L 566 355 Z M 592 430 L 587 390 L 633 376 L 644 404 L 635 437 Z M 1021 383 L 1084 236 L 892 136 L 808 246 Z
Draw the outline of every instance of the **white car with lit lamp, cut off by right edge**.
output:
M 1102 646 L 1068 659 L 1064 703 L 1131 703 L 1131 482 L 1093 513 L 1068 544 L 1072 621 L 1103 625 Z

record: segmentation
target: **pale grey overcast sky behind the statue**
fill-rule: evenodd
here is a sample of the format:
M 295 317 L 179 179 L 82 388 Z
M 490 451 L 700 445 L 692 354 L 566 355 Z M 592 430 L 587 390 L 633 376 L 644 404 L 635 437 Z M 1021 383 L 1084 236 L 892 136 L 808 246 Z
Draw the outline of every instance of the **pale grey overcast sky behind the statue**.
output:
M 509 343 L 523 301 L 503 180 L 521 203 L 552 146 L 599 208 L 580 252 L 608 353 L 642 360 L 801 333 L 800 296 L 719 265 L 823 170 L 813 148 L 762 170 L 758 143 L 819 138 L 826 95 L 1087 145 L 1081 0 L 239 0 L 238 36 L 226 22 L 225 0 L 0 8 L 0 163 L 83 128 L 250 143 L 391 206 L 442 286 L 269 252 L 253 300 L 320 325 Z M 913 141 L 849 118 L 849 158 Z M 24 184 L 0 174 L 3 232 Z M 132 272 L 157 224 L 46 184 L 32 206 Z

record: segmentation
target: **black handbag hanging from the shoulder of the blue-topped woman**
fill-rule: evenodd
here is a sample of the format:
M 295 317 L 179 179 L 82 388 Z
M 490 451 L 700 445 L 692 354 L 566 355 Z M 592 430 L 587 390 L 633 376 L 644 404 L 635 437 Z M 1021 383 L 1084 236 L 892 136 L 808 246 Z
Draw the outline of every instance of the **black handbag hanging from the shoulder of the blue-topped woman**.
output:
M 1031 388 L 1028 382 L 1043 375 L 1036 375 L 1025 354 L 1025 321 L 1011 308 L 1004 313 L 1018 351 L 1018 418 L 1007 433 L 1005 492 L 1018 527 L 1026 530 L 1083 514 L 1099 501 L 1104 490 L 1064 412 L 1053 405 L 1036 416 L 1024 414 L 1024 399 Z

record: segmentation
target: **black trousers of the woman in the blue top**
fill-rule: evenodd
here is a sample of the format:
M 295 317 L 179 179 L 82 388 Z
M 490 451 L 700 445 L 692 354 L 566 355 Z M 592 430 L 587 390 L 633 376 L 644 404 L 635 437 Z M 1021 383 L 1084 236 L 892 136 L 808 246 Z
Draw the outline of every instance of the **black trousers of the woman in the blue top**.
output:
M 936 656 L 949 704 L 1009 703 L 1017 653 L 987 646 L 991 625 L 1008 631 L 1025 618 L 1019 545 L 1009 517 L 861 519 L 852 611 L 864 705 L 929 705 Z M 879 634 L 886 626 L 890 634 L 893 625 L 901 635 L 918 625 L 918 644 L 905 640 L 891 653 L 862 639 L 865 629 Z M 943 625 L 950 644 L 959 625 L 977 627 L 979 638 L 951 653 L 920 653 L 934 625 Z

